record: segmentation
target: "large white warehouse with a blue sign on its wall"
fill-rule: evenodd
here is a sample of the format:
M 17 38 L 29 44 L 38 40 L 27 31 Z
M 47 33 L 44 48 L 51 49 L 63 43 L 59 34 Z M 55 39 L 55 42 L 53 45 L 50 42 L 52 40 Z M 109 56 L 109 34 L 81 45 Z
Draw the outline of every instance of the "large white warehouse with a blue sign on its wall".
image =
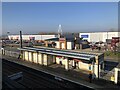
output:
M 106 39 L 112 39 L 112 37 L 120 37 L 120 32 L 90 32 L 79 33 L 79 37 L 89 42 L 106 42 Z

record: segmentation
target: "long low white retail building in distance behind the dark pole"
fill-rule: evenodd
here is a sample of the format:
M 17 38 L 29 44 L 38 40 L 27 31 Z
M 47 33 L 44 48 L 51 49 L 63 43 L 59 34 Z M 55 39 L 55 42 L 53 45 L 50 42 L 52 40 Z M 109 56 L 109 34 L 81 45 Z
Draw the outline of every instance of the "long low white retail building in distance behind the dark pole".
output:
M 57 35 L 22 35 L 23 40 L 46 40 L 50 38 L 56 38 Z M 20 40 L 20 35 L 9 35 L 8 36 L 9 40 Z

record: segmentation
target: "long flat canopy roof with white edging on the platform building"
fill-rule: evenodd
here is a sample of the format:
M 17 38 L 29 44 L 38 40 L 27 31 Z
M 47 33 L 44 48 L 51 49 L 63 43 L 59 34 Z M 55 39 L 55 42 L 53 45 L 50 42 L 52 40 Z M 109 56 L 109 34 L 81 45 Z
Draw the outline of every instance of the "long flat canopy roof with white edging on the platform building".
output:
M 68 58 L 75 58 L 80 59 L 84 61 L 91 61 L 95 60 L 94 54 L 88 54 L 88 53 L 78 53 L 78 52 L 71 52 L 66 50 L 57 50 L 57 49 L 51 49 L 51 48 L 32 48 L 32 47 L 23 47 L 18 48 L 19 50 L 23 51 L 30 51 L 30 52 L 40 52 L 43 54 L 50 54 L 50 55 L 56 55 L 56 56 L 64 56 Z

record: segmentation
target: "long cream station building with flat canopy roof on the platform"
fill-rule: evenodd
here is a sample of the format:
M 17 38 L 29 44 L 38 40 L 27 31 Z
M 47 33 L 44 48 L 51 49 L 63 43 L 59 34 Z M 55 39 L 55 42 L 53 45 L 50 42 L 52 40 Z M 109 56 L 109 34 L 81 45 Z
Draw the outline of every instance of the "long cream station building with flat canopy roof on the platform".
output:
M 25 61 L 45 66 L 61 64 L 66 70 L 74 67 L 91 72 L 95 78 L 99 78 L 101 70 L 104 69 L 102 53 L 80 53 L 47 47 L 23 47 L 19 50 L 22 51 L 22 59 Z

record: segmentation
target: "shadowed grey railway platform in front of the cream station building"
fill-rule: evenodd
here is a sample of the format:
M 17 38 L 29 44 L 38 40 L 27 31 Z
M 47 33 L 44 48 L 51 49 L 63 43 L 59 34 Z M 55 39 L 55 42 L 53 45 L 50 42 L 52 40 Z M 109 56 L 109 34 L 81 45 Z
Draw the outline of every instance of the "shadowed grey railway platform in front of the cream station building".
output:
M 120 86 L 115 85 L 112 82 L 106 81 L 103 79 L 94 79 L 94 80 L 92 80 L 92 83 L 89 83 L 89 79 L 88 79 L 87 74 L 81 73 L 81 72 L 76 71 L 76 70 L 66 71 L 63 67 L 58 66 L 58 65 L 57 65 L 57 67 L 53 68 L 53 67 L 42 66 L 39 64 L 31 63 L 28 61 L 23 61 L 20 59 L 16 59 L 16 58 L 4 56 L 4 55 L 2 56 L 2 58 L 6 59 L 8 61 L 12 61 L 12 62 L 21 64 L 21 65 L 36 69 L 38 71 L 43 71 L 43 72 L 61 77 L 65 80 L 69 80 L 69 81 L 78 83 L 78 84 L 83 85 L 83 86 L 93 88 L 95 90 L 101 90 L 101 89 L 106 90 L 106 88 L 118 90 L 120 88 Z

